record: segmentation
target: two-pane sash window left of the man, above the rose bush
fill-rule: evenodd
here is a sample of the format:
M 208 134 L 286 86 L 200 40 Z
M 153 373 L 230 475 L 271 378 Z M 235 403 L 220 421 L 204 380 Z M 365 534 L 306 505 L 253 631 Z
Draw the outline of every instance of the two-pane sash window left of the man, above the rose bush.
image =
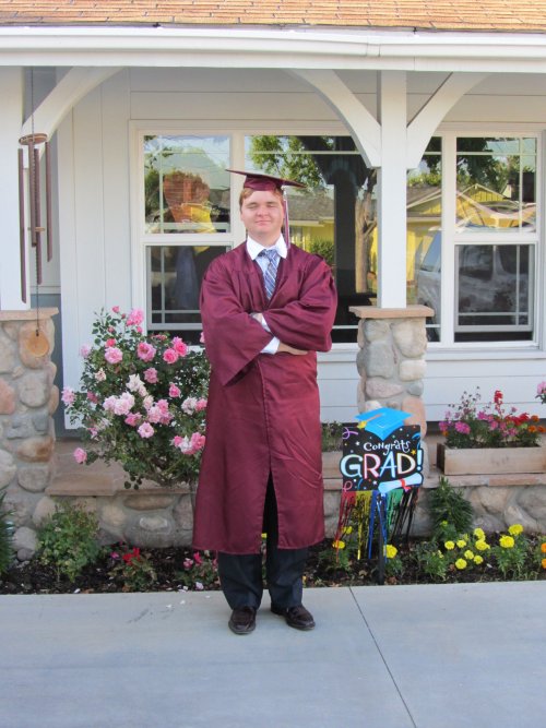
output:
M 230 139 L 144 135 L 142 160 L 149 330 L 197 343 L 203 273 L 233 244 Z

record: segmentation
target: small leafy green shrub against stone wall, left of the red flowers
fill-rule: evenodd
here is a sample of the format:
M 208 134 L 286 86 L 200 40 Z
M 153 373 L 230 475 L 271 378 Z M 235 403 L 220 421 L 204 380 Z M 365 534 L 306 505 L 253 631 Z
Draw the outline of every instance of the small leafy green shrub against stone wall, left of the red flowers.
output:
M 63 502 L 38 530 L 38 559 L 73 582 L 103 552 L 94 513 Z

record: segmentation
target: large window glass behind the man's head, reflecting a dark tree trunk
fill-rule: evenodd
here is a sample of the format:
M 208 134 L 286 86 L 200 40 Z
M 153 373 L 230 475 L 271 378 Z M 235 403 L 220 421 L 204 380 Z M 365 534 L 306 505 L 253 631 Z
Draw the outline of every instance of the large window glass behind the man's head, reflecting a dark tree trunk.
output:
M 348 307 L 369 306 L 377 294 L 376 170 L 349 136 L 250 136 L 246 168 L 306 184 L 287 191 L 293 242 L 332 266 L 332 338 L 355 342 L 358 322 Z

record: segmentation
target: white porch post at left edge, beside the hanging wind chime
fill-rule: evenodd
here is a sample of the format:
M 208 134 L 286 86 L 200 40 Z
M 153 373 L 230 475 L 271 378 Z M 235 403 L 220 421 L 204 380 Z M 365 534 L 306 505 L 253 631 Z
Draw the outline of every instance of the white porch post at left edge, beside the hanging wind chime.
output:
M 27 302 L 21 298 L 21 261 L 19 241 L 19 184 L 17 148 L 23 122 L 23 71 L 21 68 L 0 68 L 0 309 L 24 310 L 31 303 L 27 284 Z M 26 252 L 28 256 L 28 252 Z M 28 261 L 26 264 L 28 272 Z

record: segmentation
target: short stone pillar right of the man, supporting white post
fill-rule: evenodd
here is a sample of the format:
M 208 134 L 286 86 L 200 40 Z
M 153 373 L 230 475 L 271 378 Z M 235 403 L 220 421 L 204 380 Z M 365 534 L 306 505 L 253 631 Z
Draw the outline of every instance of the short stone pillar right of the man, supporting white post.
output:
M 349 310 L 360 319 L 356 357 L 360 374 L 358 411 L 393 407 L 411 413 L 406 423 L 419 425 L 425 438 L 427 418 L 422 399 L 427 350 L 425 321 L 434 315 L 432 309 L 358 306 Z

